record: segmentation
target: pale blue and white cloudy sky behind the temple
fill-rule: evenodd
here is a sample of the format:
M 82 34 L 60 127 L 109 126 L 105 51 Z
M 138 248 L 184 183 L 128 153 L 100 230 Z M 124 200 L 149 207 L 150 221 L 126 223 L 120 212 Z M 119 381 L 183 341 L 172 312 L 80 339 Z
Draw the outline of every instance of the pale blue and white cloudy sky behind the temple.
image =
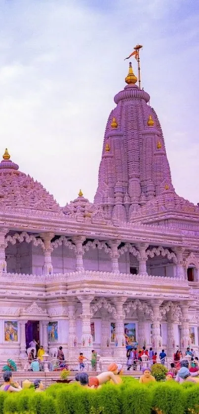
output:
M 0 0 L 0 151 L 61 206 L 80 188 L 93 200 L 106 122 L 137 43 L 174 188 L 197 203 L 199 2 Z

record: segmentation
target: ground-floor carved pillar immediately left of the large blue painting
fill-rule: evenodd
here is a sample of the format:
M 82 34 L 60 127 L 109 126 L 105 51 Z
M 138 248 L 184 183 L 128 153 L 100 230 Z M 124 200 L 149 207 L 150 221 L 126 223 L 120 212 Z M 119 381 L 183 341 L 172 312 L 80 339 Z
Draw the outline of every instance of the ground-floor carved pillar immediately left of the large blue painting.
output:
M 116 339 L 114 348 L 114 357 L 120 360 L 126 359 L 126 347 L 124 337 L 124 314 L 123 304 L 126 301 L 125 297 L 114 299 L 116 307 Z

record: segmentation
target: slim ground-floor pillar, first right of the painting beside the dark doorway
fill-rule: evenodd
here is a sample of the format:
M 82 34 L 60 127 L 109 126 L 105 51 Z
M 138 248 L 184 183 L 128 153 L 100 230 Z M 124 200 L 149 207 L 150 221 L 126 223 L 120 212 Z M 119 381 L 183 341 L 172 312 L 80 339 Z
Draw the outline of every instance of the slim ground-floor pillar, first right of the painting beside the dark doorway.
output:
M 68 339 L 68 357 L 70 360 L 77 358 L 77 332 L 76 332 L 76 303 L 69 302 L 68 304 L 68 318 L 69 318 L 69 339 Z

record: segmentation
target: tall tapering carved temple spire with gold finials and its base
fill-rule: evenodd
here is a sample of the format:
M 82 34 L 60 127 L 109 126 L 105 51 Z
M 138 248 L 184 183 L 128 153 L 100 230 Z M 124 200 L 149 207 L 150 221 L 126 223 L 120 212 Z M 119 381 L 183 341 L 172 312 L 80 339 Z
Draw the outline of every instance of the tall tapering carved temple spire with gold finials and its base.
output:
M 197 206 L 175 193 L 159 118 L 136 81 L 130 63 L 127 85 L 108 118 L 94 203 L 121 223 L 171 207 L 198 214 Z

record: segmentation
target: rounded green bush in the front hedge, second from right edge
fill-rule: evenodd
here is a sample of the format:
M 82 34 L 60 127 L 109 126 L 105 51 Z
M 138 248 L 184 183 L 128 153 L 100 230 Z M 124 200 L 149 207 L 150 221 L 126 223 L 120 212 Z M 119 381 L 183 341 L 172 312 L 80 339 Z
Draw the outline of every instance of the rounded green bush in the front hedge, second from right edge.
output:
M 156 383 L 151 389 L 152 407 L 163 414 L 184 414 L 184 390 L 176 382 Z

